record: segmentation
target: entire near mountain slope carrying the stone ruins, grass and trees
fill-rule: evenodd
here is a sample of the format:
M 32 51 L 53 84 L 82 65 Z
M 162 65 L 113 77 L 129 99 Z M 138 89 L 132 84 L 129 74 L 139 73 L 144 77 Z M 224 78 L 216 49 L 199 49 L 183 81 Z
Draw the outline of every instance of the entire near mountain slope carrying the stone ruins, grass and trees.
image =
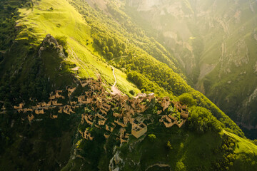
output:
M 0 170 L 256 170 L 256 140 L 112 2 L 0 3 Z

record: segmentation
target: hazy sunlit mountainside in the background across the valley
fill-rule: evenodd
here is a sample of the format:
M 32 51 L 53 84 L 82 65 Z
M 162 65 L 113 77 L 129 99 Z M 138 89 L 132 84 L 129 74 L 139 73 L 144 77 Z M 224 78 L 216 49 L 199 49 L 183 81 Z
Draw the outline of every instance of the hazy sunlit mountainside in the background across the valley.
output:
M 256 138 L 257 1 L 131 0 L 118 6 L 173 54 L 191 86 Z

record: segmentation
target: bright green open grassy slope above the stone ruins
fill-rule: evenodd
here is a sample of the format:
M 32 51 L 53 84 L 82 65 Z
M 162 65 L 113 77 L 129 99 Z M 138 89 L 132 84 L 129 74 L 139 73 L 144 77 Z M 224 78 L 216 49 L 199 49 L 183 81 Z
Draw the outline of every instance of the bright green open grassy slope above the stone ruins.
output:
M 26 28 L 19 33 L 16 41 L 31 37 L 35 41 L 30 43 L 39 45 L 48 33 L 54 37 L 66 36 L 69 57 L 65 61 L 79 66 L 79 77 L 101 76 L 107 85 L 114 83 L 111 67 L 93 48 L 91 27 L 67 1 L 34 1 L 33 9 L 20 9 L 19 12 L 22 19 L 18 21 L 18 25 Z M 124 93 L 129 94 L 129 90 L 139 92 L 118 69 L 116 78 L 117 85 Z

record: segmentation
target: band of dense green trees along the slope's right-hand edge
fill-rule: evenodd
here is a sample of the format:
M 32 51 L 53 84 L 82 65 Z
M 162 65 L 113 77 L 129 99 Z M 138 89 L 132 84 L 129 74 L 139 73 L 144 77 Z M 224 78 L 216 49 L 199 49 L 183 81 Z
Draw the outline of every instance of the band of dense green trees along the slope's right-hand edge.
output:
M 126 26 L 126 24 L 131 23 L 131 19 L 129 18 L 129 16 L 126 16 L 127 18 L 125 18 L 124 16 L 124 20 L 121 20 L 125 24 L 117 24 L 117 22 L 114 21 L 113 18 L 106 16 L 104 11 L 101 11 L 101 9 L 99 9 L 97 6 L 91 7 L 86 2 L 80 0 L 73 1 L 71 4 L 76 6 L 76 9 L 81 14 L 84 14 L 84 18 L 86 19 L 88 24 L 92 26 L 92 28 L 94 28 L 95 45 L 98 46 L 102 51 L 105 51 L 107 53 L 109 51 L 106 51 L 106 49 L 115 50 L 114 46 L 117 47 L 117 45 L 109 43 L 112 42 L 111 40 L 116 40 L 117 44 L 126 43 L 129 40 L 129 42 L 126 43 L 125 48 L 128 53 L 128 57 L 116 61 L 116 63 L 114 63 L 114 66 L 116 66 L 117 68 L 125 69 L 126 72 L 136 71 L 138 73 L 141 73 L 141 75 L 143 75 L 145 78 L 148 78 L 149 81 L 157 83 L 158 86 L 164 88 L 170 94 L 171 98 L 174 98 L 173 95 L 191 93 L 191 95 L 193 95 L 193 97 L 198 100 L 198 105 L 201 105 L 204 108 L 208 108 L 209 110 L 211 110 L 213 115 L 215 115 L 218 120 L 221 120 L 221 122 L 224 124 L 224 127 L 229 128 L 233 130 L 234 133 L 243 136 L 243 132 L 238 129 L 238 126 L 233 123 L 233 121 L 231 121 L 231 119 L 229 119 L 221 110 L 219 110 L 216 105 L 211 103 L 211 101 L 204 97 L 204 95 L 188 86 L 186 81 L 183 80 L 183 76 L 181 76 L 181 74 L 174 72 L 176 71 L 176 68 L 169 66 L 167 63 L 161 63 L 161 59 L 158 58 L 158 56 L 153 58 L 153 56 L 150 55 L 151 51 L 154 49 L 150 47 L 152 45 L 151 43 L 145 44 L 146 50 L 145 48 L 142 49 L 140 48 L 141 46 L 138 46 L 138 44 L 144 42 L 142 41 L 142 39 L 150 41 L 153 38 L 148 38 L 146 36 L 143 36 L 143 38 L 141 38 L 140 36 L 136 36 L 138 34 L 135 35 L 135 33 L 131 33 L 129 31 L 129 28 L 127 28 L 128 26 Z M 111 4 L 114 5 L 113 3 Z M 83 6 L 83 8 L 81 6 Z M 120 14 L 119 11 L 116 11 L 115 14 L 117 16 L 123 15 L 122 13 Z M 133 23 L 131 25 L 134 26 Z M 140 28 L 138 29 L 140 30 Z M 136 29 L 136 33 L 137 32 L 138 30 Z M 134 43 L 134 41 L 136 41 L 137 43 Z M 154 39 L 152 42 L 154 42 Z M 158 43 L 154 43 L 153 45 L 157 47 L 157 44 Z M 163 46 L 159 46 L 159 48 L 165 50 Z M 114 51 L 111 51 L 111 53 L 113 52 Z M 105 57 L 109 58 L 109 56 L 107 55 Z M 143 77 L 141 77 L 141 80 L 138 79 L 138 81 L 134 83 L 138 85 L 138 83 L 140 82 L 143 82 Z M 163 96 L 162 94 L 158 95 Z

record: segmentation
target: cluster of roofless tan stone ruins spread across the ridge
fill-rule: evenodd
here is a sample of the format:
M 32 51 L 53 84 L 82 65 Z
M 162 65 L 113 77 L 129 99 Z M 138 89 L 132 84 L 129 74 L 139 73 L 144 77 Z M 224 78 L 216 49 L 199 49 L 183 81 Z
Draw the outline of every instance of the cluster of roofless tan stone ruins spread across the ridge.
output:
M 73 88 L 68 86 L 66 87 L 66 97 L 63 95 L 64 90 L 56 90 L 49 95 L 47 103 L 36 103 L 36 105 L 30 108 L 24 108 L 25 104 L 20 103 L 18 106 L 14 106 L 14 109 L 19 113 L 29 113 L 27 118 L 31 123 L 35 118 L 34 115 L 44 114 L 50 109 L 56 109 L 58 113 L 70 115 L 71 113 L 76 113 L 76 108 L 84 108 L 84 114 L 81 115 L 81 124 L 87 124 L 91 128 L 104 130 L 104 137 L 106 139 L 109 138 L 109 135 L 114 130 L 118 130 L 119 133 L 116 134 L 116 139 L 120 140 L 121 143 L 127 142 L 129 135 L 139 138 L 147 132 L 147 125 L 144 123 L 146 119 L 143 117 L 143 113 L 149 108 L 148 104 L 151 102 L 159 106 L 156 115 L 160 117 L 159 122 L 163 123 L 166 128 L 170 128 L 173 125 L 178 125 L 181 128 L 188 118 L 186 105 L 171 101 L 168 97 L 156 98 L 151 93 L 148 95 L 138 94 L 136 97 L 129 98 L 126 95 L 108 93 L 102 85 L 101 78 L 97 81 L 94 78 L 89 78 L 80 81 L 80 86 L 83 90 L 86 90 L 81 95 L 76 96 L 76 100 L 71 99 L 74 99 L 73 93 L 78 86 Z M 66 104 L 60 103 L 60 100 L 64 101 L 65 99 L 69 99 Z M 174 115 L 174 112 L 170 114 L 164 112 L 172 104 L 173 110 L 180 114 L 180 118 Z M 51 111 L 49 112 L 51 113 Z M 50 118 L 58 118 L 58 115 L 50 114 Z M 130 128 L 128 126 L 131 126 L 129 133 L 126 132 Z M 94 140 L 89 128 L 79 130 L 79 133 L 86 140 Z

